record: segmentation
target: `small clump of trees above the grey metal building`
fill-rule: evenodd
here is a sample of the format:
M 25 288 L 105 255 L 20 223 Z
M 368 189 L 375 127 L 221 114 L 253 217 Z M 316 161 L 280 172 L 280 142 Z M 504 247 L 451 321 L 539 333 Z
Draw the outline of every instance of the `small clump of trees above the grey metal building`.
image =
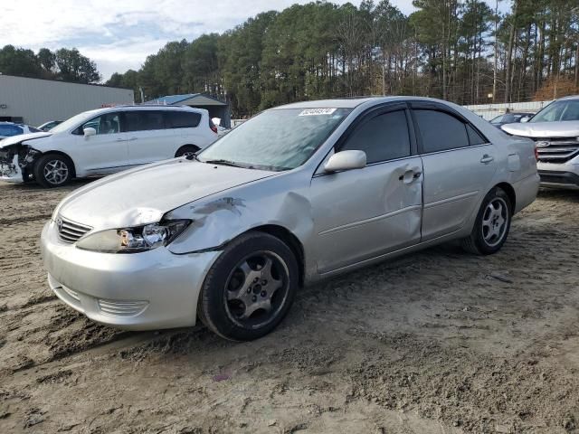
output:
M 33 52 L 16 48 L 14 45 L 5 45 L 0 49 L 0 72 L 5 75 L 85 84 L 101 80 L 95 62 L 75 48 L 61 48 L 55 52 L 41 48 L 38 52 Z

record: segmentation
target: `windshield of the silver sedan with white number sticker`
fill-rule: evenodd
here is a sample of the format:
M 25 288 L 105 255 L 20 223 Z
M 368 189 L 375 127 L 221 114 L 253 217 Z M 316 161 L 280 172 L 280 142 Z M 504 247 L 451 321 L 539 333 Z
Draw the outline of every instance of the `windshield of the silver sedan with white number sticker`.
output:
M 265 170 L 304 164 L 351 109 L 273 109 L 233 128 L 198 159 Z

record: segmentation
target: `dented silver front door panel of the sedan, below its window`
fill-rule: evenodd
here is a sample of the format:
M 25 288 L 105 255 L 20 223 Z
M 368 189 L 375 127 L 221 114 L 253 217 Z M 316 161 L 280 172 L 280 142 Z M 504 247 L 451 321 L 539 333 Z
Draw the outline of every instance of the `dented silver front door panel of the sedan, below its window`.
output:
M 421 240 L 422 159 L 315 175 L 311 203 L 320 273 L 412 246 Z

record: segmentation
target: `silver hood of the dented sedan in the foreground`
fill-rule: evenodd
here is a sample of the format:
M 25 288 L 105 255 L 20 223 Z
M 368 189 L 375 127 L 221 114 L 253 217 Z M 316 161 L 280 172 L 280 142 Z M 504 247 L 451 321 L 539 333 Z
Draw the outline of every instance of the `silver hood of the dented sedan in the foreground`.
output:
M 176 158 L 85 185 L 64 198 L 55 214 L 95 230 L 138 226 L 158 222 L 185 203 L 271 175 Z

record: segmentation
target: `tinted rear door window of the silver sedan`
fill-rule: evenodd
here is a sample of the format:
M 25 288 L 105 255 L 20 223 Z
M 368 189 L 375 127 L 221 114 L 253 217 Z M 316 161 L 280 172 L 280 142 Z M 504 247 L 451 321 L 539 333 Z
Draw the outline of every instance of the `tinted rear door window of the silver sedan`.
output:
M 423 154 L 470 145 L 466 125 L 458 118 L 429 109 L 414 109 L 414 116 L 422 138 Z

